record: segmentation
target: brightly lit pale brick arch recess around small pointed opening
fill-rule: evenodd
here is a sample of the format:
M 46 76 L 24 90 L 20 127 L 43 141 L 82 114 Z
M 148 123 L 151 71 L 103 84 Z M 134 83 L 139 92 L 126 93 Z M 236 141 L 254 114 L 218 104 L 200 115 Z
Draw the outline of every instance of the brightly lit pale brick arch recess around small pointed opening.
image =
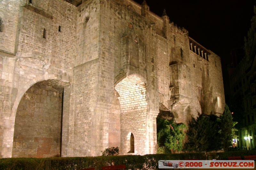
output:
M 120 104 L 120 147 L 127 154 L 127 134 L 132 131 L 134 154 L 145 154 L 147 133 L 147 86 L 138 74 L 122 78 L 115 85 Z

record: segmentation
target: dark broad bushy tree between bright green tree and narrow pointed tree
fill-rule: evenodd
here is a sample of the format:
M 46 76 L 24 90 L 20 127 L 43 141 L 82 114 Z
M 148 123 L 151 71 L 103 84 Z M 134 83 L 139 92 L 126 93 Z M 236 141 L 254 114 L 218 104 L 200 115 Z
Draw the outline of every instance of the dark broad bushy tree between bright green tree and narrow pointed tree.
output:
M 185 148 L 188 151 L 210 152 L 219 150 L 219 121 L 216 115 L 201 114 L 188 123 L 188 140 Z

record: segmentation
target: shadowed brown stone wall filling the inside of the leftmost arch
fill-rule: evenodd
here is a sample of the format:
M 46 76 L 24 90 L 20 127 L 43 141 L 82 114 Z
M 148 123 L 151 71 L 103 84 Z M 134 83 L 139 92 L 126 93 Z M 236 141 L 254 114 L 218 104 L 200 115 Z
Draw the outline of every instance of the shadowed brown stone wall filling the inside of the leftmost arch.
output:
M 12 157 L 60 156 L 62 93 L 37 83 L 20 100 Z

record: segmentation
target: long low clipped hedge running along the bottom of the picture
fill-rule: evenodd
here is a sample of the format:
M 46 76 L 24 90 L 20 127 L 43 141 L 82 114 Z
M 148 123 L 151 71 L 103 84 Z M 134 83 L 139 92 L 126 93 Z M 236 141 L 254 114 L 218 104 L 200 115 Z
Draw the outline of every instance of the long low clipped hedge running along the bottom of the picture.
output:
M 219 153 L 177 153 L 150 155 L 123 155 L 98 157 L 66 157 L 66 158 L 4 158 L 0 159 L 0 170 L 77 170 L 102 166 L 125 164 L 132 170 L 158 169 L 158 160 L 186 159 L 227 159 L 228 156 L 256 155 L 256 150 L 219 152 Z

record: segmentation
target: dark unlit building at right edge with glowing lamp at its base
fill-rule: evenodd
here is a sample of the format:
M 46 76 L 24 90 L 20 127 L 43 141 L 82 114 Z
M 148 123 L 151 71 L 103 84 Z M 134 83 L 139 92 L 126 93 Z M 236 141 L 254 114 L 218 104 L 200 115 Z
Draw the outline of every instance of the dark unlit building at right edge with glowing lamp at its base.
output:
M 254 13 L 256 8 L 254 6 Z M 256 141 L 256 17 L 251 19 L 251 28 L 245 37 L 244 56 L 239 63 L 234 56 L 229 67 L 229 82 L 231 96 L 236 99 L 237 106 L 231 110 L 234 116 L 241 120 L 238 128 L 238 138 L 235 139 L 238 148 L 246 146 L 247 149 L 255 148 Z M 241 53 L 239 53 L 241 54 Z M 237 64 L 236 64 L 237 63 Z M 240 122 L 240 121 L 239 121 Z

